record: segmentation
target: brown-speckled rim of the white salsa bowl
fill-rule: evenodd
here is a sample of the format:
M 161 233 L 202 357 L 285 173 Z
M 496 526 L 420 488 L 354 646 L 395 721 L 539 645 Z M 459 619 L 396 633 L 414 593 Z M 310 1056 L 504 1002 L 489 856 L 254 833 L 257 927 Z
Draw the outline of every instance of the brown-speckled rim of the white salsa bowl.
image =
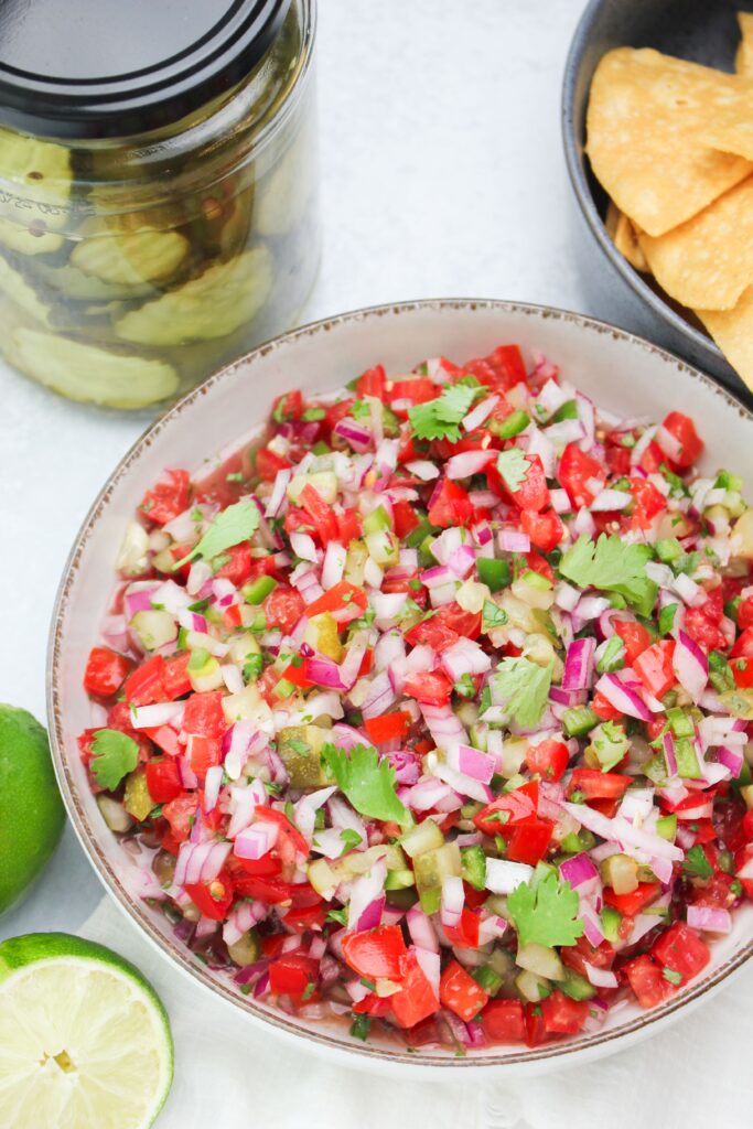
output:
M 439 313 L 447 309 L 456 312 L 473 312 L 475 309 L 498 310 L 500 313 L 523 314 L 528 317 L 542 320 L 554 317 L 572 323 L 578 326 L 579 330 L 585 330 L 586 332 L 608 333 L 613 338 L 619 339 L 633 348 L 639 347 L 641 350 L 646 350 L 659 357 L 662 361 L 669 362 L 671 365 L 677 367 L 680 371 L 684 373 L 688 377 L 697 379 L 701 384 L 706 385 L 710 392 L 726 402 L 727 408 L 738 411 L 743 418 L 753 422 L 753 412 L 751 412 L 745 404 L 737 400 L 737 397 L 734 396 L 729 390 L 720 386 L 704 373 L 700 371 L 694 366 L 689 365 L 686 361 L 676 357 L 674 353 L 671 353 L 668 350 L 654 344 L 638 334 L 611 325 L 608 322 L 553 306 L 484 298 L 428 298 L 414 301 L 388 303 L 348 310 L 332 317 L 324 317 L 318 321 L 310 322 L 306 325 L 272 338 L 257 345 L 255 349 L 244 353 L 242 357 L 238 357 L 236 360 L 224 365 L 220 369 L 209 376 L 207 380 L 199 384 L 196 387 L 186 393 L 186 395 L 184 395 L 180 401 L 170 405 L 161 415 L 150 423 L 129 447 L 117 462 L 115 469 L 107 475 L 107 479 L 100 490 L 97 492 L 94 502 L 89 507 L 89 510 L 84 518 L 78 533 L 76 534 L 76 539 L 63 568 L 52 612 L 45 679 L 50 745 L 58 784 L 60 786 L 71 824 L 88 860 L 93 865 L 95 873 L 107 890 L 108 894 L 114 899 L 120 909 L 140 927 L 152 946 L 166 960 L 168 960 L 173 966 L 177 968 L 185 975 L 191 977 L 195 983 L 202 986 L 216 997 L 222 998 L 228 1004 L 235 1006 L 239 1012 L 248 1016 L 252 1022 L 256 1021 L 268 1024 L 269 1026 L 278 1029 L 278 1031 L 287 1036 L 308 1040 L 310 1043 L 315 1044 L 315 1048 L 318 1045 L 319 1050 L 326 1049 L 330 1052 L 344 1052 L 351 1057 L 353 1065 L 356 1065 L 358 1060 L 360 1060 L 364 1065 L 367 1065 L 367 1061 L 378 1060 L 382 1065 L 393 1067 L 421 1066 L 429 1070 L 448 1070 L 452 1068 L 469 1070 L 488 1069 L 490 1067 L 514 1069 L 534 1067 L 534 1065 L 537 1064 L 539 1068 L 543 1069 L 546 1064 L 559 1061 L 563 1067 L 570 1062 L 577 1062 L 578 1060 L 585 1061 L 588 1058 L 596 1057 L 599 1048 L 612 1043 L 615 1040 L 631 1035 L 634 1039 L 639 1039 L 642 1035 L 648 1034 L 651 1030 L 657 1030 L 657 1025 L 663 1026 L 668 1024 L 681 1008 L 699 1001 L 708 992 L 718 988 L 723 981 L 727 980 L 728 977 L 738 971 L 748 961 L 748 959 L 753 956 L 753 937 L 751 937 L 751 939 L 741 949 L 720 964 L 708 978 L 704 978 L 695 984 L 691 984 L 689 988 L 685 988 L 681 994 L 673 996 L 659 1007 L 654 1008 L 651 1012 L 646 1012 L 636 1016 L 630 1023 L 614 1031 L 598 1031 L 587 1035 L 580 1035 L 568 1042 L 543 1044 L 537 1048 L 510 1049 L 509 1053 L 489 1054 L 483 1058 L 456 1058 L 454 1056 L 439 1058 L 424 1054 L 420 1051 L 409 1053 L 406 1050 L 401 1048 L 395 1048 L 393 1050 L 384 1047 L 376 1047 L 369 1043 L 356 1045 L 352 1040 L 339 1038 L 339 1031 L 334 1026 L 330 1027 L 323 1023 L 318 1029 L 313 1026 L 310 1029 L 303 1030 L 297 1024 L 290 1022 L 283 1012 L 266 1012 L 256 1005 L 251 996 L 242 996 L 237 991 L 234 991 L 229 981 L 226 984 L 220 979 L 211 980 L 203 965 L 190 960 L 190 951 L 185 948 L 184 945 L 174 940 L 172 937 L 164 936 L 155 926 L 152 926 L 149 912 L 137 898 L 133 898 L 129 893 L 122 879 L 115 873 L 114 867 L 105 856 L 105 851 L 99 842 L 99 834 L 89 823 L 85 808 L 79 799 L 78 789 L 69 768 L 70 758 L 65 751 L 65 739 L 61 720 L 63 701 L 60 668 L 62 663 L 62 633 L 69 593 L 75 584 L 76 574 L 81 558 L 87 551 L 88 541 L 106 506 L 108 505 L 111 495 L 119 484 L 120 480 L 128 474 L 133 463 L 139 460 L 142 452 L 151 446 L 152 441 L 160 435 L 161 431 L 170 425 L 176 423 L 180 420 L 181 414 L 186 409 L 190 409 L 195 403 L 200 402 L 210 387 L 224 379 L 233 378 L 233 374 L 249 362 L 253 364 L 254 359 L 257 357 L 268 356 L 269 353 L 280 349 L 284 350 L 290 342 L 300 340 L 301 338 L 314 338 L 317 334 L 326 333 L 333 326 L 343 323 L 370 321 L 385 315 L 411 316 L 411 314 L 415 312 L 435 310 Z M 531 1073 L 535 1071 L 532 1070 Z

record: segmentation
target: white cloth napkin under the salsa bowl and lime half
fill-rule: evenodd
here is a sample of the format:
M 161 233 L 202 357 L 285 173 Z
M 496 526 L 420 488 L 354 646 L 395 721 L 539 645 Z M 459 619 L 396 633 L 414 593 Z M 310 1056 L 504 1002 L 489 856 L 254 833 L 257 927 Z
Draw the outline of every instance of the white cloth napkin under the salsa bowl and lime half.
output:
M 409 1083 L 331 1065 L 234 1014 L 173 969 L 108 898 L 80 933 L 141 969 L 169 1013 L 175 1083 L 157 1129 L 751 1124 L 753 968 L 666 1033 L 592 1066 L 507 1083 L 462 1076 Z

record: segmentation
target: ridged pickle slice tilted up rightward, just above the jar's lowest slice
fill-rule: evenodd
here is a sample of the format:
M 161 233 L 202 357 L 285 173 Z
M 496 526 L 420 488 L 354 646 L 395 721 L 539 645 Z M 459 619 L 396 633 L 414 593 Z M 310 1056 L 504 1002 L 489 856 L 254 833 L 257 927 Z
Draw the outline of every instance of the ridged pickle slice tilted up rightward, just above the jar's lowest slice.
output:
M 115 322 L 115 332 L 124 341 L 145 345 L 180 345 L 227 336 L 259 314 L 272 290 L 273 278 L 269 248 L 252 247 L 237 259 L 210 266 L 198 279 L 156 301 L 130 310 Z

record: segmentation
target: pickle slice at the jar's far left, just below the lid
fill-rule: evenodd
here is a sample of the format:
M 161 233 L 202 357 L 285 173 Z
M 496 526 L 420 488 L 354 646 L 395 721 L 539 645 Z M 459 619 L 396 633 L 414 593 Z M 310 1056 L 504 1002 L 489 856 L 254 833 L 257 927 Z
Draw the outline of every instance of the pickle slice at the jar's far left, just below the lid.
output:
M 0 243 L 25 255 L 58 251 L 71 192 L 69 150 L 0 129 Z

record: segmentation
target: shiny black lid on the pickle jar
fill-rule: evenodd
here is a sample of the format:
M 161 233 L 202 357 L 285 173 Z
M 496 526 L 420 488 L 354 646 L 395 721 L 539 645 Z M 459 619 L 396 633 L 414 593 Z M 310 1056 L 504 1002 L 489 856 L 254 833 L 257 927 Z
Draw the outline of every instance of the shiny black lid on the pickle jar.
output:
M 291 0 L 0 0 L 0 124 L 107 138 L 173 124 L 239 82 Z

